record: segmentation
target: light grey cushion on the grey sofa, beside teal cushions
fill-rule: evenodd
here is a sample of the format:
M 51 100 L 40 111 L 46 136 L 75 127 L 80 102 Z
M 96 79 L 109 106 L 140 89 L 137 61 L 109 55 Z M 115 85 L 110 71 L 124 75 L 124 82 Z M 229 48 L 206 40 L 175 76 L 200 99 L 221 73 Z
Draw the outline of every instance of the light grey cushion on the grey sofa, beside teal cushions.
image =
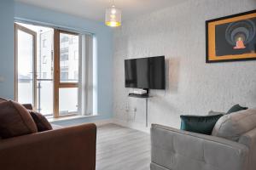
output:
M 213 136 L 238 141 L 240 136 L 256 127 L 256 109 L 222 116 L 212 130 Z

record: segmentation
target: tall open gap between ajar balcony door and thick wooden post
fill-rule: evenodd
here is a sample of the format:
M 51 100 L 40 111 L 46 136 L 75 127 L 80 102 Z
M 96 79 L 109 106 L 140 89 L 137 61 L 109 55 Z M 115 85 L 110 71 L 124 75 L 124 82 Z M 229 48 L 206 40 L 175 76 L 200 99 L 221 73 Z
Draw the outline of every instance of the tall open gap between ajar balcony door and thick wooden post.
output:
M 38 33 L 38 111 L 49 116 L 53 114 L 53 71 L 54 30 L 33 26 Z

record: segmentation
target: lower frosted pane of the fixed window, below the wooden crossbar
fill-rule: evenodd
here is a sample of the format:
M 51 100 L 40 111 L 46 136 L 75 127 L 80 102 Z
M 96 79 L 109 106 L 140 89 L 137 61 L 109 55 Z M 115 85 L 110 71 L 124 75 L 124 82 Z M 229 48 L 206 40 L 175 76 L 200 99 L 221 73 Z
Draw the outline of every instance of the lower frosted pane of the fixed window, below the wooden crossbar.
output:
M 60 88 L 59 102 L 61 116 L 79 111 L 79 88 Z

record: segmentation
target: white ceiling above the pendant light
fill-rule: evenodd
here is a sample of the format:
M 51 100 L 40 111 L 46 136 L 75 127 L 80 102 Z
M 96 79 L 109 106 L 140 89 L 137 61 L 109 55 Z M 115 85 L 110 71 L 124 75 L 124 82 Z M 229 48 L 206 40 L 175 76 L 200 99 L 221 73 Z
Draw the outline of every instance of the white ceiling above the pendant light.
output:
M 104 21 L 105 9 L 113 0 L 15 0 L 62 13 L 73 14 L 90 20 Z M 148 14 L 160 8 L 182 3 L 186 0 L 114 0 L 115 6 L 122 10 L 123 20 L 137 15 Z

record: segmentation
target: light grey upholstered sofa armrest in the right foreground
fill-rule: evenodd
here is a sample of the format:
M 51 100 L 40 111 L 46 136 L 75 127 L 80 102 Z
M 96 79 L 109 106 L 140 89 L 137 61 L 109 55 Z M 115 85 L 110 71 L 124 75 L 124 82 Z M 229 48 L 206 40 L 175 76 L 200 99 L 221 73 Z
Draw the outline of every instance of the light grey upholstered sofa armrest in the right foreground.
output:
M 151 169 L 245 170 L 248 148 L 227 139 L 172 127 L 151 127 Z M 164 169 L 163 168 L 163 169 Z

